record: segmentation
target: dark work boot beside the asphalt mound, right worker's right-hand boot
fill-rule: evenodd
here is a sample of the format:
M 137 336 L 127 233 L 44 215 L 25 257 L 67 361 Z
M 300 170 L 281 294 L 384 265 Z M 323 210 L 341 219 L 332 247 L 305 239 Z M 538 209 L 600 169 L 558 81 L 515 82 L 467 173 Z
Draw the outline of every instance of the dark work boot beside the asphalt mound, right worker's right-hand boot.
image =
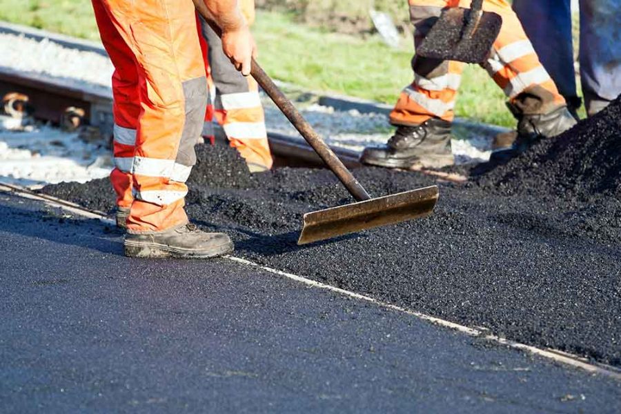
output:
M 577 123 L 566 106 L 546 114 L 520 114 L 511 103 L 506 105 L 517 119 L 517 131 L 503 132 L 494 137 L 490 161 L 508 161 L 531 148 L 540 139 L 556 137 Z

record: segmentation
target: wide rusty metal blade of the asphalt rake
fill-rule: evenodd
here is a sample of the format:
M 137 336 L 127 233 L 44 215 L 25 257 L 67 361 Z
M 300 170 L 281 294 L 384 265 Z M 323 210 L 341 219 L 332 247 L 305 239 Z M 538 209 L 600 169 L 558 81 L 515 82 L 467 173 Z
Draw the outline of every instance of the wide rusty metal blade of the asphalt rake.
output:
M 433 212 L 437 197 L 437 186 L 431 186 L 306 213 L 297 244 L 428 216 Z

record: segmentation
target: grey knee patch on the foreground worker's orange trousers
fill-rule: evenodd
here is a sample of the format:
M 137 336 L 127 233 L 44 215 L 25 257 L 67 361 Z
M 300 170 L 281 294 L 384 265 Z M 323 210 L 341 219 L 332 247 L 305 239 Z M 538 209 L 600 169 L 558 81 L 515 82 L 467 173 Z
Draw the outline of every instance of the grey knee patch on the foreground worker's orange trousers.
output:
M 203 130 L 207 110 L 207 78 L 197 77 L 183 83 L 186 108 L 184 131 L 181 133 L 175 162 L 184 166 L 196 164 L 194 145 Z

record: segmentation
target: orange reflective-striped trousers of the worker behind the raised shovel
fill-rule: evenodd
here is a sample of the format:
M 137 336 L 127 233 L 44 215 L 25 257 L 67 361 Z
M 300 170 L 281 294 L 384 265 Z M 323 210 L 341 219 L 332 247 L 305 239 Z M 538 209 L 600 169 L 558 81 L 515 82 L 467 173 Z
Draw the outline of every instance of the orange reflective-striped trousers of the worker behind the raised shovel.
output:
M 470 0 L 409 0 L 415 46 L 422 43 L 443 8 L 469 8 L 470 3 Z M 485 0 L 483 10 L 502 17 L 500 34 L 492 46 L 491 56 L 482 66 L 504 90 L 509 101 L 513 102 L 526 91 L 538 99 L 537 107 L 542 110 L 564 105 L 563 97 L 540 63 L 511 5 L 505 0 Z M 401 92 L 391 112 L 391 124 L 419 125 L 432 117 L 453 121 L 464 63 L 414 55 L 412 68 L 414 81 Z

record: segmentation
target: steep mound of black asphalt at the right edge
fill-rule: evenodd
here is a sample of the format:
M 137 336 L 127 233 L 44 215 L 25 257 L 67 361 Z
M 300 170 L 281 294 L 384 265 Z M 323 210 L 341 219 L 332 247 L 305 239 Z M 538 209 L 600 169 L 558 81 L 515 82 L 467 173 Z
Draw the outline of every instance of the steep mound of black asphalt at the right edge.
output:
M 480 177 L 500 192 L 542 197 L 621 197 L 621 97 L 609 108 L 523 157 Z

